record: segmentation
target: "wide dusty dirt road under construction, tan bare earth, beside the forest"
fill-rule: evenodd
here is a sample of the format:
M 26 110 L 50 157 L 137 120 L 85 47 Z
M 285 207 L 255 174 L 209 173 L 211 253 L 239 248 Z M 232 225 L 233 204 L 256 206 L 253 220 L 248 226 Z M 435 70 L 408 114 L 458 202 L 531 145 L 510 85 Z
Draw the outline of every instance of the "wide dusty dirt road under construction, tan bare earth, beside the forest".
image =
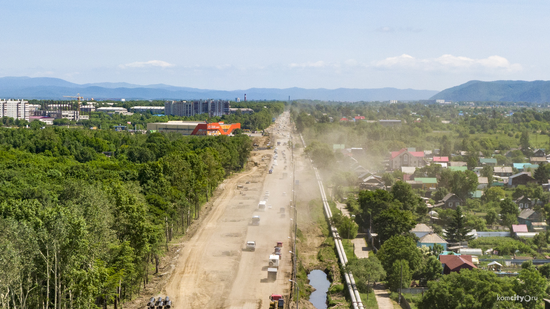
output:
M 286 131 L 284 136 L 276 136 L 276 141 L 288 140 Z M 293 224 L 289 204 L 294 178 L 292 152 L 287 146 L 278 148 L 279 164 L 273 174 L 267 173 L 273 162 L 273 150 L 252 152 L 252 159 L 260 166 L 224 183 L 223 193 L 213 203 L 212 211 L 184 245 L 166 286 L 166 295 L 173 300 L 174 309 L 268 308 L 271 294 L 288 297 L 288 279 L 292 273 L 288 236 Z M 288 163 L 284 163 L 283 150 Z M 266 155 L 270 157 L 260 162 Z M 283 170 L 284 165 L 288 165 L 287 170 Z M 241 185 L 242 188 L 238 187 Z M 266 204 L 271 209 L 259 211 L 258 203 L 265 200 L 266 191 L 269 191 Z M 281 207 L 284 212 L 279 210 Z M 259 225 L 252 225 L 252 216 L 260 216 Z M 256 241 L 256 251 L 246 251 L 246 241 Z M 283 242 L 283 253 L 277 279 L 271 280 L 267 279 L 268 257 L 277 241 Z

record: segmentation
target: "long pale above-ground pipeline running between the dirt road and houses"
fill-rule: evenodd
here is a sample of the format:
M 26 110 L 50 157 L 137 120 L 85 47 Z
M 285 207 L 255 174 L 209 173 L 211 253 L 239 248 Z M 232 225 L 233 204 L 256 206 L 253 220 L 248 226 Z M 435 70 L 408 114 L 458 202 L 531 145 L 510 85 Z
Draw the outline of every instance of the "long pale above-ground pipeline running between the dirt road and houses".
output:
M 301 134 L 300 137 L 305 148 L 306 143 L 304 141 L 304 137 Z M 310 161 L 311 163 L 313 163 L 311 159 Z M 323 182 L 321 181 L 321 175 L 319 174 L 319 171 L 315 166 L 313 166 L 313 170 L 315 170 L 315 177 L 317 178 L 317 184 L 319 185 L 319 191 L 321 192 L 321 200 L 323 201 L 324 214 L 326 214 L 329 222 L 332 222 L 332 211 L 331 207 L 328 205 L 327 196 L 324 194 L 324 187 Z M 348 263 L 348 257 L 346 257 L 345 255 L 344 246 L 342 245 L 342 239 L 340 238 L 338 230 L 334 227 L 334 225 L 332 225 L 332 223 L 329 223 L 329 225 L 332 231 L 332 237 L 334 238 L 334 245 L 336 247 L 336 251 L 338 252 L 338 258 L 344 268 L 344 279 L 346 286 L 348 286 L 349 296 L 351 298 L 351 305 L 353 305 L 354 309 L 365 309 L 365 306 L 363 306 L 363 302 L 361 301 L 361 296 L 359 295 L 359 290 L 357 290 L 357 285 L 355 284 L 353 274 L 345 270 L 345 266 Z

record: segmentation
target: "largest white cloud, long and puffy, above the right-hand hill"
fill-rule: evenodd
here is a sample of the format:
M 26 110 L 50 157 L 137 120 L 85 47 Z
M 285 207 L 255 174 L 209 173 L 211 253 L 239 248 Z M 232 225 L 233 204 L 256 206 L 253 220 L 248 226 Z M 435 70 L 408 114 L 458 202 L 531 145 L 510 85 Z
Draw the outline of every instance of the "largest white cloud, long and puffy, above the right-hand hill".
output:
M 386 59 L 373 62 L 372 65 L 377 68 L 409 68 L 425 71 L 472 69 L 519 71 L 522 69 L 520 64 L 511 64 L 508 59 L 500 56 L 472 59 L 468 57 L 453 56 L 451 54 L 444 54 L 438 58 L 426 59 L 419 59 L 408 54 L 402 54 L 398 57 L 388 57 Z

